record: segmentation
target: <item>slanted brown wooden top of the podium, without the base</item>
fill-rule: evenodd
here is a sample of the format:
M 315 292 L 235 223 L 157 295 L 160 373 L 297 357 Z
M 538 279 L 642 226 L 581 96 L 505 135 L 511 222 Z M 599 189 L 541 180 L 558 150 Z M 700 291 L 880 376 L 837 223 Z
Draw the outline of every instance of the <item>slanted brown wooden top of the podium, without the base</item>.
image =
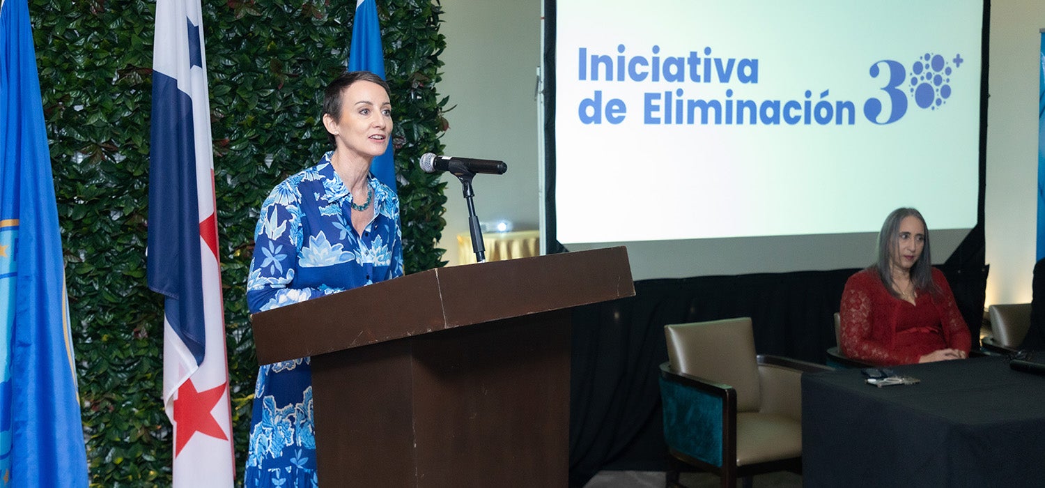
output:
M 428 270 L 251 321 L 264 365 L 634 295 L 618 247 Z

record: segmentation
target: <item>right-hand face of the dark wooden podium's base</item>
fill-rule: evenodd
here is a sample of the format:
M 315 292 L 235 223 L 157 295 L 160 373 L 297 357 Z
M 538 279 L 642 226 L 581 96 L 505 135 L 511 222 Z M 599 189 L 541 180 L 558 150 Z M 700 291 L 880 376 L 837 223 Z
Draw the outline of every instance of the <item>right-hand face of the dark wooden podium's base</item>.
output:
M 570 330 L 563 311 L 415 341 L 417 486 L 568 484 Z

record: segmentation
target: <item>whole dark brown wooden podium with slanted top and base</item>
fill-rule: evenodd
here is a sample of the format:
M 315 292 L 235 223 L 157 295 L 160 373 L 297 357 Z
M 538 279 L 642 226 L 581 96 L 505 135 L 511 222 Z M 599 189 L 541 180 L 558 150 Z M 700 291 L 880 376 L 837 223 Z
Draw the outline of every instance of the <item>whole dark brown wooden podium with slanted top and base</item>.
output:
M 571 311 L 634 296 L 624 248 L 429 270 L 255 313 L 311 356 L 320 486 L 567 486 Z

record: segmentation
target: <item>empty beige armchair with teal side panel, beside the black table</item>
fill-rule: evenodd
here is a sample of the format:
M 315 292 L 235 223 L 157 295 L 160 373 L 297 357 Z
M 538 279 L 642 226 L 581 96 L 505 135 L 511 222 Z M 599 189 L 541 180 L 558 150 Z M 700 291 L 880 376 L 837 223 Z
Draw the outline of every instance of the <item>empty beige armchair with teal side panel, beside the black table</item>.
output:
M 756 355 L 748 318 L 665 326 L 660 365 L 664 434 L 682 464 L 717 473 L 723 487 L 763 472 L 802 470 L 802 373 L 826 366 Z

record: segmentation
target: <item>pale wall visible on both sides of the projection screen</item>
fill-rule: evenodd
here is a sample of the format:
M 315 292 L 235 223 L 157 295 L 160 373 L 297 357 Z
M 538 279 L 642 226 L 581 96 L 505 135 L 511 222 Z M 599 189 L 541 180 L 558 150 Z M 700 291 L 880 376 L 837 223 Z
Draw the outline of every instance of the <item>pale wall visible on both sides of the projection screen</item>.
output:
M 446 154 L 503 159 L 501 177 L 479 176 L 481 219 L 538 222 L 535 69 L 541 0 L 442 0 L 447 48 L 439 92 L 457 104 L 446 117 Z M 1038 181 L 1038 70 L 1045 2 L 994 0 L 988 102 L 985 233 L 991 265 L 986 304 L 1030 301 Z M 440 247 L 457 262 L 457 234 L 468 231 L 461 185 L 448 178 Z

